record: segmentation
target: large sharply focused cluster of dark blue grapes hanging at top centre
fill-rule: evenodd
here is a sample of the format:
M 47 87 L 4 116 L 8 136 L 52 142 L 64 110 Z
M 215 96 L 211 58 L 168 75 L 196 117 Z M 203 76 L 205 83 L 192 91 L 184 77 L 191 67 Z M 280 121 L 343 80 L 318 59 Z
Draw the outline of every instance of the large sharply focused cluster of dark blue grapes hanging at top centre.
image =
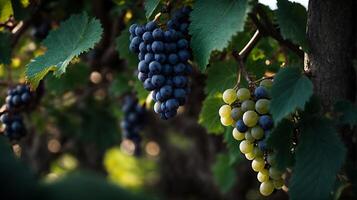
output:
M 138 79 L 152 91 L 154 110 L 162 119 L 177 114 L 189 93 L 188 75 L 192 66 L 189 49 L 189 7 L 178 10 L 166 24 L 167 30 L 155 21 L 130 26 L 130 50 L 138 53 Z

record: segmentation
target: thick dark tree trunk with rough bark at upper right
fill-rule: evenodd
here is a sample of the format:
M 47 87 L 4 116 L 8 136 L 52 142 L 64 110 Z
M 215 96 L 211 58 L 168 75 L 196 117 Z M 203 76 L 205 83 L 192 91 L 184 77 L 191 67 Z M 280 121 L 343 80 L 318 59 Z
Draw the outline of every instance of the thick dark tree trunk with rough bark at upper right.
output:
M 314 92 L 321 97 L 325 111 L 336 100 L 355 100 L 353 59 L 356 40 L 354 0 L 313 0 L 309 2 L 307 37 L 310 52 L 305 68 L 311 70 Z

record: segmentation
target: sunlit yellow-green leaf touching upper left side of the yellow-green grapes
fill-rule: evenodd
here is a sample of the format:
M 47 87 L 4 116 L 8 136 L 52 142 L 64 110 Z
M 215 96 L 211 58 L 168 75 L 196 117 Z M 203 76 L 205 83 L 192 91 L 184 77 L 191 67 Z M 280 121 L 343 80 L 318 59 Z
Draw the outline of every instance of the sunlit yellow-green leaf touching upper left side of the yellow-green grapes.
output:
M 222 105 L 223 101 L 220 95 L 207 96 L 203 101 L 198 123 L 204 126 L 209 133 L 221 134 L 224 131 L 218 114 Z

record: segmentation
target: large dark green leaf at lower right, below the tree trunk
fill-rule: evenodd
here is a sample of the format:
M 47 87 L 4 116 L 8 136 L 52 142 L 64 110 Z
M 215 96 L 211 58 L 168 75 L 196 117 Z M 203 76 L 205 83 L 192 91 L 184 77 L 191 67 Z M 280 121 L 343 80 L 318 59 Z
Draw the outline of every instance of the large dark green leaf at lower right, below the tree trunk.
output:
M 289 193 L 292 200 L 326 200 L 332 192 L 346 149 L 332 122 L 319 117 L 302 119 Z

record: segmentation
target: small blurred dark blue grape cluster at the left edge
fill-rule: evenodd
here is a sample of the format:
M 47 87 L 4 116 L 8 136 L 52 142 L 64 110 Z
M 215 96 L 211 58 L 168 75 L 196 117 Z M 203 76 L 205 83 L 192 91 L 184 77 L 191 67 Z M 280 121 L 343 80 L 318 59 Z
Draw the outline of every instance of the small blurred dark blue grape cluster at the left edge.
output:
M 4 135 L 10 140 L 25 136 L 26 129 L 20 111 L 26 109 L 34 96 L 27 85 L 20 84 L 7 91 L 5 99 L 6 112 L 0 115 Z

